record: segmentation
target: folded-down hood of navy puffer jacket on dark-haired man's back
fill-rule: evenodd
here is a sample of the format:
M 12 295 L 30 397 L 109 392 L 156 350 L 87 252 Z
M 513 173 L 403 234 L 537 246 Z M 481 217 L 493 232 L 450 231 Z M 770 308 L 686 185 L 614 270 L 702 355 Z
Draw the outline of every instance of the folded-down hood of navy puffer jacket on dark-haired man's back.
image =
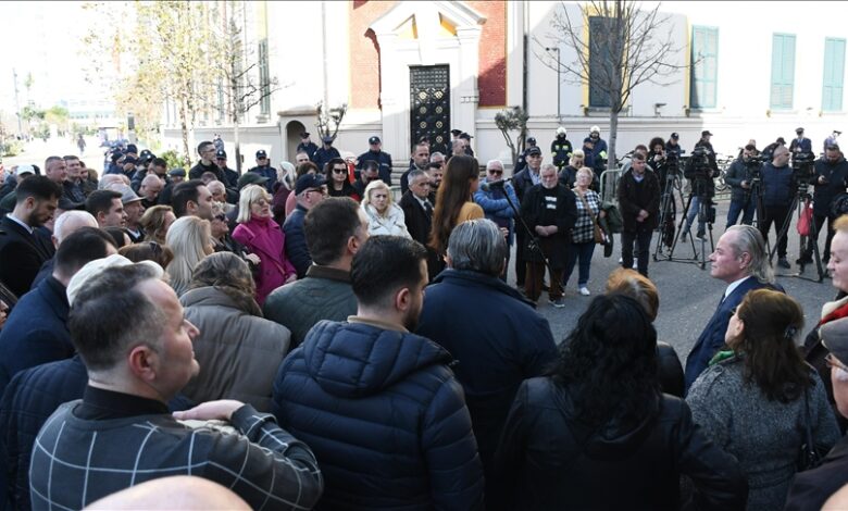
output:
M 307 372 L 321 388 L 344 398 L 362 398 L 391 387 L 450 354 L 432 340 L 364 323 L 322 321 L 303 341 Z

